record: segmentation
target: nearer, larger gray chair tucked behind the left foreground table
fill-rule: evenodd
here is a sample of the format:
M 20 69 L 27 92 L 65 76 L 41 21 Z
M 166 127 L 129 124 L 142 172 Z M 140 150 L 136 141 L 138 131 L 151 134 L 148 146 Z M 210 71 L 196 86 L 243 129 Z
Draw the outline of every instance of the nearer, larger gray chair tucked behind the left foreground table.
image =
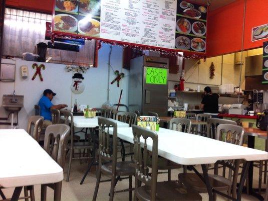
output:
M 44 149 L 45 151 L 64 169 L 66 160 L 68 141 L 70 137 L 70 127 L 65 124 L 50 125 L 46 129 Z M 47 187 L 54 190 L 54 199 L 61 199 L 62 182 L 41 185 L 41 200 L 47 200 Z M 58 192 L 58 193 L 57 193 Z

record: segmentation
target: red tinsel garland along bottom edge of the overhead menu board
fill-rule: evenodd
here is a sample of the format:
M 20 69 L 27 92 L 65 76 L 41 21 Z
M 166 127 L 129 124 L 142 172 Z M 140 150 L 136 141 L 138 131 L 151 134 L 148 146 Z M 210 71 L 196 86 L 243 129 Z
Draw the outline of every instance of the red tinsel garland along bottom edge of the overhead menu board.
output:
M 52 33 L 51 35 L 51 42 L 52 44 L 54 43 L 54 38 L 59 38 L 59 37 L 65 37 L 66 39 L 84 39 L 84 40 L 92 40 L 91 38 L 86 38 L 86 37 L 81 37 L 81 36 L 66 36 L 64 34 L 56 34 L 56 33 Z M 160 52 L 161 54 L 166 54 L 166 55 L 173 55 L 173 56 L 180 56 L 186 59 L 190 59 L 190 58 L 196 58 L 196 59 L 205 59 L 205 56 L 202 55 L 198 55 L 198 54 L 191 54 L 190 56 L 186 56 L 186 55 L 182 55 L 177 51 L 174 50 L 163 50 L 163 49 L 159 49 L 157 47 L 152 48 L 152 47 L 146 47 L 146 46 L 139 46 L 139 45 L 133 45 L 133 44 L 125 44 L 125 43 L 120 43 L 117 41 L 102 41 L 99 40 L 101 43 L 99 43 L 99 47 L 98 49 L 101 49 L 102 47 L 102 43 L 106 43 L 106 44 L 111 44 L 111 45 L 117 45 L 117 46 L 123 46 L 123 47 L 130 47 L 133 49 L 139 49 L 139 50 L 150 50 L 150 51 L 156 51 L 156 52 Z

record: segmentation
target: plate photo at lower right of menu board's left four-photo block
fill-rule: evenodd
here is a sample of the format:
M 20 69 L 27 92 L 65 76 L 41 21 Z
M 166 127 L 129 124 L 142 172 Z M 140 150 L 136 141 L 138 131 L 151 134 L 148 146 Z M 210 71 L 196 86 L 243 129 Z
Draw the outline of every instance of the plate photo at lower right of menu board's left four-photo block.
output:
M 99 37 L 101 23 L 95 19 L 84 18 L 78 22 L 78 31 L 88 36 Z

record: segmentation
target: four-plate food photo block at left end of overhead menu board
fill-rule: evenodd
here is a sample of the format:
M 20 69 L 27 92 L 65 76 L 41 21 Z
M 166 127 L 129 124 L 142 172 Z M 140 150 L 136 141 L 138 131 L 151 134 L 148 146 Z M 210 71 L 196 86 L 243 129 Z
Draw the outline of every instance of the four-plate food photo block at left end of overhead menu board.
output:
M 55 0 L 53 31 L 100 37 L 100 0 Z

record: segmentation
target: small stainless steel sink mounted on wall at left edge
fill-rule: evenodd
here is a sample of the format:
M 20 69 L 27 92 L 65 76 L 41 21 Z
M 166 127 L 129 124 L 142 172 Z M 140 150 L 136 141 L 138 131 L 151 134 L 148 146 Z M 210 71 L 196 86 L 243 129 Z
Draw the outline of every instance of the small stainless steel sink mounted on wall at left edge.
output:
M 23 95 L 3 95 L 3 108 L 8 112 L 19 112 L 23 108 Z

